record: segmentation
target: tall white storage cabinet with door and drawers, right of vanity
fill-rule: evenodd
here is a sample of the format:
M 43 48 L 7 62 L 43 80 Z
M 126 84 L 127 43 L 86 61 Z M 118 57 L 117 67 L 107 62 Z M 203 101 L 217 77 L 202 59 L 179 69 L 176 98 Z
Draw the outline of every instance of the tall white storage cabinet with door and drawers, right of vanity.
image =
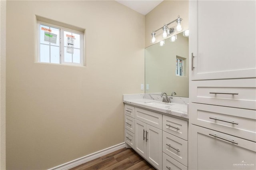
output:
M 190 1 L 190 169 L 256 169 L 256 1 Z

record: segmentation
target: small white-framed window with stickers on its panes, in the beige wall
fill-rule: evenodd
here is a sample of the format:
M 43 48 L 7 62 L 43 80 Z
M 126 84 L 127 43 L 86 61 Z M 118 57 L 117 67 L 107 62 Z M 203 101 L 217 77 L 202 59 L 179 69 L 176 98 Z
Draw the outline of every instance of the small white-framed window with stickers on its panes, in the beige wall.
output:
M 84 66 L 84 32 L 38 21 L 40 63 Z

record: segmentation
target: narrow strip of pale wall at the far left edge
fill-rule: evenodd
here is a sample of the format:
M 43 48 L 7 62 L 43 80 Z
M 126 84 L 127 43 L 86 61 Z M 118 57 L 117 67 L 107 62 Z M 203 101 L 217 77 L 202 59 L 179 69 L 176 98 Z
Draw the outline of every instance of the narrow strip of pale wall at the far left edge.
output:
M 0 170 L 6 169 L 6 1 L 0 0 Z

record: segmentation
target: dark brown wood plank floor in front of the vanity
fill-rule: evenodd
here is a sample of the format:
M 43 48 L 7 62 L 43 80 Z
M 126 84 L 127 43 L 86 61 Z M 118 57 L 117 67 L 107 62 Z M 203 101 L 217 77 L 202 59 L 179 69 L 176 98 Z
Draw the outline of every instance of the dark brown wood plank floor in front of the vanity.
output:
M 70 170 L 156 170 L 134 150 L 122 148 Z

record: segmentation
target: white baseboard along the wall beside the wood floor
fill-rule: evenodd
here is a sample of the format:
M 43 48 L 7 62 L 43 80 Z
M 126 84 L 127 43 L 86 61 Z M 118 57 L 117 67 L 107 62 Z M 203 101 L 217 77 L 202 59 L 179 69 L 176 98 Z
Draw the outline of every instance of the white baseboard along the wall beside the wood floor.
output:
M 103 149 L 103 150 L 100 150 L 98 152 L 94 152 L 92 154 L 88 154 L 86 156 L 83 156 L 81 158 L 78 158 L 78 159 L 75 159 L 75 160 L 72 160 L 70 162 L 66 162 L 65 164 L 62 164 L 62 165 L 59 165 L 59 166 L 55 166 L 53 168 L 50 168 L 48 170 L 68 170 L 70 168 L 74 168 L 75 166 L 78 166 L 78 165 L 81 165 L 81 164 L 84 164 L 86 162 L 89 162 L 90 160 L 94 160 L 96 158 L 99 158 L 101 156 L 104 156 L 106 154 L 109 154 L 111 152 L 114 152 L 116 150 L 119 150 L 119 149 L 122 149 L 125 147 L 125 143 L 122 142 L 120 144 L 117 144 L 117 145 L 114 145 L 114 146 L 111 146 L 109 148 L 106 148 L 106 149 Z

